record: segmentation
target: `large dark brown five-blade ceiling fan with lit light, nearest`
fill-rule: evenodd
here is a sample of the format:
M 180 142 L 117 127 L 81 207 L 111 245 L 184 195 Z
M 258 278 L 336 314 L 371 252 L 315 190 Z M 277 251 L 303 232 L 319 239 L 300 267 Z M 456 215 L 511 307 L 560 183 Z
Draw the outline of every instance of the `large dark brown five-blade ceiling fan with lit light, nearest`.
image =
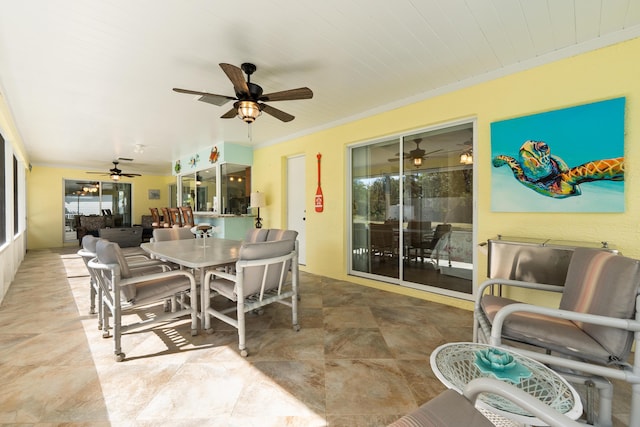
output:
M 231 83 L 233 83 L 233 89 L 236 96 L 216 95 L 215 93 L 199 92 L 189 89 L 173 88 L 174 91 L 179 93 L 186 93 L 190 95 L 200 95 L 198 101 L 206 102 L 208 104 L 222 106 L 229 101 L 236 101 L 233 103 L 233 108 L 222 116 L 223 119 L 232 119 L 239 117 L 247 123 L 253 123 L 253 121 L 260 115 L 262 111 L 275 117 L 283 122 L 290 122 L 294 119 L 289 113 L 285 113 L 282 110 L 274 108 L 264 102 L 275 101 L 291 101 L 296 99 L 311 99 L 313 98 L 313 92 L 308 87 L 300 87 L 297 89 L 283 90 L 281 92 L 273 92 L 268 94 L 262 93 L 262 87 L 251 82 L 251 74 L 256 71 L 256 66 L 245 62 L 241 65 L 241 68 L 235 65 L 221 63 L 220 67 L 222 71 L 227 75 Z M 247 75 L 245 81 L 242 72 Z

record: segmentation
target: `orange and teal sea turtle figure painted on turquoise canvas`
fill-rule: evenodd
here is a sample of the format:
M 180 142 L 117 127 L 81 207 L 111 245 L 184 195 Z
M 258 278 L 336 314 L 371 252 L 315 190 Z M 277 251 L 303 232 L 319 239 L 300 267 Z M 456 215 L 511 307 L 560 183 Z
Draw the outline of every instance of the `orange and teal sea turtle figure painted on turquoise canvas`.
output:
M 600 180 L 624 181 L 624 157 L 593 160 L 570 168 L 551 154 L 544 141 L 526 141 L 518 158 L 497 155 L 493 166 L 508 166 L 518 182 L 544 196 L 562 199 L 582 194 L 580 184 Z

